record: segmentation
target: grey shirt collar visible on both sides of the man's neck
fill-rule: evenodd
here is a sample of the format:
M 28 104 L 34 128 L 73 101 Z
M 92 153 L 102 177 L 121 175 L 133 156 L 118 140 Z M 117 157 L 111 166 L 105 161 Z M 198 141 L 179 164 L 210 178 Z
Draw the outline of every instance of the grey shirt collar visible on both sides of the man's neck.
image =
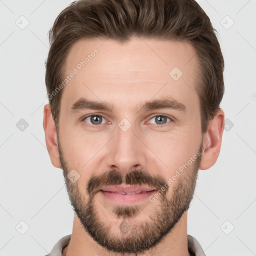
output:
M 63 248 L 69 243 L 71 234 L 63 236 L 53 246 L 49 254 L 45 256 L 61 256 Z M 187 235 L 188 252 L 192 256 L 206 256 L 199 242 L 190 234 Z

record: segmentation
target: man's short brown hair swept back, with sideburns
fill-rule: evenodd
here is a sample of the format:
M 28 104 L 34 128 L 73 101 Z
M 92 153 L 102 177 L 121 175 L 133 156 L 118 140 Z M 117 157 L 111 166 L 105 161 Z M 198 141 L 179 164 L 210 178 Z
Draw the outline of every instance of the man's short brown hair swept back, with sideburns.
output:
M 204 133 L 224 93 L 224 60 L 215 31 L 195 0 L 78 0 L 70 3 L 49 30 L 50 49 L 45 62 L 45 84 L 56 128 L 62 90 L 53 97 L 51 93 L 63 80 L 65 60 L 72 44 L 81 38 L 125 42 L 134 35 L 188 41 L 193 45 L 200 66 L 196 93 Z

